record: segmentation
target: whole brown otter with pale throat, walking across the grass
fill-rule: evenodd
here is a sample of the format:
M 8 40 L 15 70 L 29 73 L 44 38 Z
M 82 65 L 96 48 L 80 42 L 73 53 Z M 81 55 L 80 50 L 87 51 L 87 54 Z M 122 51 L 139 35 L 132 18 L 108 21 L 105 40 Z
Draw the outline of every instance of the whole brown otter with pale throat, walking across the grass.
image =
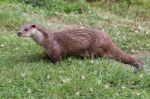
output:
M 57 63 L 67 56 L 82 58 L 104 57 L 130 64 L 137 70 L 143 69 L 143 63 L 126 54 L 108 36 L 107 33 L 94 29 L 67 29 L 53 31 L 38 24 L 25 24 L 17 33 L 19 37 L 31 37 L 44 47 L 45 57 Z

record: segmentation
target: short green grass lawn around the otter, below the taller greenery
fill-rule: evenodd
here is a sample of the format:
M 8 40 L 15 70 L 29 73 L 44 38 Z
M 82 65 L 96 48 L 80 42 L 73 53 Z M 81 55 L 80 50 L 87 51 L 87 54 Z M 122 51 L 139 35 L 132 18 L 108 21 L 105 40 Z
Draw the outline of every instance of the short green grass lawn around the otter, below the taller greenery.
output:
M 92 8 L 82 14 L 54 12 L 21 3 L 0 3 L 0 98 L 8 99 L 149 99 L 150 25 L 145 17 L 129 18 Z M 55 30 L 103 29 L 127 53 L 138 54 L 145 71 L 134 74 L 129 65 L 111 59 L 67 58 L 56 65 L 42 59 L 43 49 L 16 31 L 32 21 Z

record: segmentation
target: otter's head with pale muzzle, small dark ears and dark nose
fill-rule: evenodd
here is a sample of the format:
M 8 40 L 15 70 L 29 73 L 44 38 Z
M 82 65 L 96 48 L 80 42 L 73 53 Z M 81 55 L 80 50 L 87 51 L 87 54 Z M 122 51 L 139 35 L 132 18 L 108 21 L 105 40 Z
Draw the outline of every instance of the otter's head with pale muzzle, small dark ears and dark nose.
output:
M 25 24 L 21 27 L 17 35 L 19 37 L 32 37 L 39 32 L 36 27 L 37 26 L 35 24 Z

